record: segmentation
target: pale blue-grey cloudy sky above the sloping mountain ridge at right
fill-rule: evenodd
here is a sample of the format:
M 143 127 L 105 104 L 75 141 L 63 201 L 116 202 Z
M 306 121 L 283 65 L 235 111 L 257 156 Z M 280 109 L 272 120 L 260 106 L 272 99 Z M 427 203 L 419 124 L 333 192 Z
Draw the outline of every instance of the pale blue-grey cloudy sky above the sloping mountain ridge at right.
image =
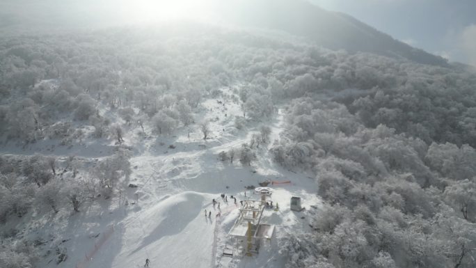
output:
M 310 0 L 450 58 L 476 63 L 476 0 Z

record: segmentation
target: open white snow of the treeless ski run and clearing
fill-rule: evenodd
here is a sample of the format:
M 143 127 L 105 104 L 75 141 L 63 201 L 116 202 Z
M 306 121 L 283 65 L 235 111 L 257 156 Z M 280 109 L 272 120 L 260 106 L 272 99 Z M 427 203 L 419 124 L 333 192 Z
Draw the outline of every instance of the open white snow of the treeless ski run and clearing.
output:
M 77 214 L 62 210 L 54 216 L 42 216 L 28 226 L 31 233 L 67 240 L 61 242 L 68 249 L 65 262 L 56 265 L 55 255 L 45 253 L 38 267 L 132 268 L 143 267 L 146 258 L 150 259 L 150 267 L 284 267 L 285 256 L 278 253 L 276 241 L 254 257 L 239 254 L 222 257 L 225 244 L 230 242 L 228 231 L 238 216 L 239 200 L 258 198 L 252 190 L 245 189 L 247 185 L 258 187 L 258 182 L 264 180 L 291 180 L 291 184 L 278 187 L 269 185 L 273 189 L 271 198 L 280 209 L 267 211 L 262 222 L 276 225 L 276 239 L 309 228 L 301 217 L 310 216 L 313 210 L 310 205 L 321 202 L 312 178 L 287 171 L 271 159 L 268 149 L 283 129 L 280 110 L 273 118 L 263 120 L 272 129 L 271 141 L 260 145 L 257 160 L 251 166 L 241 166 L 237 155 L 233 164 L 218 159 L 219 152 L 239 149 L 264 124 L 251 122 L 247 129 L 236 129 L 234 118 L 242 112 L 239 103 L 227 97 L 232 94 L 230 88 L 223 88 L 223 96 L 205 100 L 195 111 L 197 123 L 210 120 L 211 134 L 206 141 L 197 125 L 177 129 L 170 136 L 157 136 L 146 128 L 145 138 L 140 135 L 140 127 L 127 129 L 124 139 L 133 148 L 134 168 L 120 194 L 116 192 L 111 200 L 85 204 Z M 51 148 L 51 142 L 40 141 L 22 150 L 6 145 L 3 150 L 27 155 L 42 146 Z M 169 148 L 172 144 L 175 148 Z M 74 152 L 83 157 L 101 158 L 111 154 L 113 147 L 113 139 L 88 140 L 75 143 L 72 148 L 58 146 L 47 152 L 58 157 Z M 129 183 L 138 187 L 129 188 Z M 228 196 L 228 204 L 221 200 L 221 193 Z M 237 205 L 232 203 L 230 195 L 237 197 Z M 301 196 L 304 212 L 289 210 L 291 196 Z M 219 218 L 212 198 L 221 202 Z M 212 216 L 205 217 L 204 210 L 211 211 Z M 94 254 L 86 261 L 85 255 L 90 252 Z

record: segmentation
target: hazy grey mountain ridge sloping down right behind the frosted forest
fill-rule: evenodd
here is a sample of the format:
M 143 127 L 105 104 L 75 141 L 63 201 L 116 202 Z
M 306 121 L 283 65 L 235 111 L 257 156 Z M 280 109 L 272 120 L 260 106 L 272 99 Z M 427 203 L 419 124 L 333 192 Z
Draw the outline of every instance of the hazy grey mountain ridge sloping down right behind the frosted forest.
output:
M 344 13 L 324 10 L 304 0 L 227 1 L 225 17 L 244 26 L 285 31 L 329 49 L 370 52 L 416 63 L 448 66 L 441 56 L 395 40 Z

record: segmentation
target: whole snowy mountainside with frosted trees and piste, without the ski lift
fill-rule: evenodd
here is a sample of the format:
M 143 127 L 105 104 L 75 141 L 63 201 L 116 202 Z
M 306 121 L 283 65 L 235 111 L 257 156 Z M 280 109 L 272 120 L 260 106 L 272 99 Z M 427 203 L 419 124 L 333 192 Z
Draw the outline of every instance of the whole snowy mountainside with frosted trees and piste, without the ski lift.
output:
M 474 267 L 473 74 L 196 25 L 41 39 L 0 40 L 0 267 Z M 223 257 L 219 194 L 264 180 L 275 239 Z

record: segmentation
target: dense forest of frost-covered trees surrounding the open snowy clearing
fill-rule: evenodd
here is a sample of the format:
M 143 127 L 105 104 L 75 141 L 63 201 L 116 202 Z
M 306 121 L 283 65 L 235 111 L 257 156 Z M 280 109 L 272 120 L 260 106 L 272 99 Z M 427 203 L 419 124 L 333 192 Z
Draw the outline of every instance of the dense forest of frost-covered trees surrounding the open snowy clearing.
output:
M 113 194 L 132 172 L 125 132 L 194 127 L 206 139 L 193 114 L 235 84 L 235 126 L 283 107 L 273 160 L 312 173 L 324 200 L 312 231 L 281 241 L 287 267 L 476 265 L 475 74 L 209 26 L 2 38 L 2 143 L 110 139 L 117 150 L 101 161 L 1 155 L 0 224 Z M 253 152 L 220 157 L 250 164 Z M 0 234 L 0 267 L 34 267 L 35 242 L 17 232 Z

